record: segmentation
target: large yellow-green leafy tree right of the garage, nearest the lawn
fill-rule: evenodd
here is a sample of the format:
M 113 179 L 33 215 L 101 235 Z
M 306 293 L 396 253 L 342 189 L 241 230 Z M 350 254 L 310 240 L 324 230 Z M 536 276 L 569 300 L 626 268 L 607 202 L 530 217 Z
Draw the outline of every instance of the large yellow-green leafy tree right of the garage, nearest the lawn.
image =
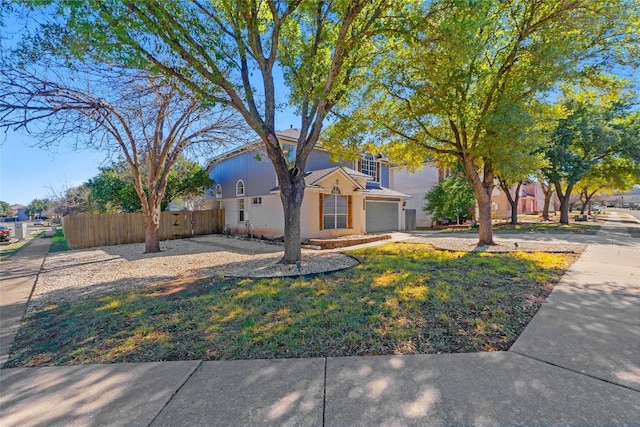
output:
M 409 31 L 383 41 L 334 132 L 355 142 L 384 141 L 387 156 L 402 163 L 425 150 L 457 159 L 478 200 L 478 243 L 492 244 L 494 178 L 505 160 L 532 152 L 523 141 L 543 95 L 613 61 L 612 46 L 623 53 L 637 46 L 638 7 L 443 0 L 424 9 L 407 23 Z

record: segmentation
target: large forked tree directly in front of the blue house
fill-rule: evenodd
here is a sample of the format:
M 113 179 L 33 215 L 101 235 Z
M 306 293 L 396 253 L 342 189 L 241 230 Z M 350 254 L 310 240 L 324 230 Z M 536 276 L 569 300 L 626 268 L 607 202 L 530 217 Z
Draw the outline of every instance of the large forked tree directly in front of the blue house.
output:
M 58 2 L 58 25 L 42 33 L 67 51 L 145 67 L 178 79 L 201 102 L 236 109 L 264 144 L 284 209 L 283 263 L 301 259 L 300 208 L 306 161 L 332 108 L 368 63 L 370 40 L 403 2 L 294 0 Z M 400 21 L 401 22 L 401 21 Z M 288 93 L 276 81 L 282 74 Z M 300 115 L 295 165 L 276 136 L 286 101 Z

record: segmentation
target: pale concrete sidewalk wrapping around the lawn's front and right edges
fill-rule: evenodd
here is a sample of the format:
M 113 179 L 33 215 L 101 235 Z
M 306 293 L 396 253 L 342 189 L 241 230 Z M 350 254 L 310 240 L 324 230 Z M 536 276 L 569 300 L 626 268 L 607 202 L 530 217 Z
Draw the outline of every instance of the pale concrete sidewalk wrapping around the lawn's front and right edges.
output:
M 627 227 L 640 224 L 543 237 L 589 247 L 507 352 L 2 369 L 0 424 L 638 426 L 640 235 Z M 3 265 L 2 311 L 41 251 L 14 257 L 15 278 Z

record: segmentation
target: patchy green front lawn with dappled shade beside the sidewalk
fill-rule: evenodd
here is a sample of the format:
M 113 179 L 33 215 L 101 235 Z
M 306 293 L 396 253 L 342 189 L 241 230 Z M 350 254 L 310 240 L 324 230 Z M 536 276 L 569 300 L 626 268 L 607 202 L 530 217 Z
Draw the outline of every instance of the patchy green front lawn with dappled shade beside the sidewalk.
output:
M 390 243 L 338 273 L 202 277 L 25 316 L 7 367 L 508 349 L 577 254 Z

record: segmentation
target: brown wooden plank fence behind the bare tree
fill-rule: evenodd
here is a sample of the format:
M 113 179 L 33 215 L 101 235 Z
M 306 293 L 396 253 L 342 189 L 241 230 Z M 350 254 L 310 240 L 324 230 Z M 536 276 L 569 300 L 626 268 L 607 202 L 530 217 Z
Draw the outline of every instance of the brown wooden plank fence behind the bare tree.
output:
M 162 212 L 160 240 L 222 233 L 224 210 Z M 77 214 L 62 218 L 70 249 L 144 242 L 141 213 Z

